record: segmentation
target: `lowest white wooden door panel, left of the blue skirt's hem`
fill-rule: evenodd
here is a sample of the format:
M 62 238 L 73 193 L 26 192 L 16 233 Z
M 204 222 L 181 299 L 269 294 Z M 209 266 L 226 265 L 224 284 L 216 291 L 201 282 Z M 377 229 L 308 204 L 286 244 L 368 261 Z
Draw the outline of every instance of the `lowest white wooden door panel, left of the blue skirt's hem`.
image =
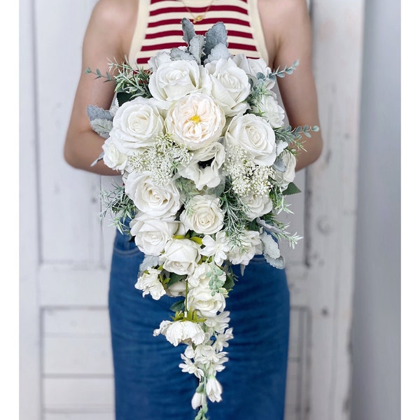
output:
M 43 380 L 45 412 L 112 412 L 112 378 L 47 377 Z

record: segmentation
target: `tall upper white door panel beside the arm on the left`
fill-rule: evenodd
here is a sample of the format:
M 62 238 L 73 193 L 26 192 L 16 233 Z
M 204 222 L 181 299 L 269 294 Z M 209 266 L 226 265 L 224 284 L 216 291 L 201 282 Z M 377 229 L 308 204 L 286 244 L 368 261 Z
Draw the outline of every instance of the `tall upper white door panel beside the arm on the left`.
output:
M 64 162 L 63 146 L 80 74 L 81 46 L 94 0 L 36 0 L 36 88 L 41 257 L 98 261 L 99 176 Z M 77 13 L 75 13 L 77 10 Z M 71 36 L 69 36 L 71 34 Z

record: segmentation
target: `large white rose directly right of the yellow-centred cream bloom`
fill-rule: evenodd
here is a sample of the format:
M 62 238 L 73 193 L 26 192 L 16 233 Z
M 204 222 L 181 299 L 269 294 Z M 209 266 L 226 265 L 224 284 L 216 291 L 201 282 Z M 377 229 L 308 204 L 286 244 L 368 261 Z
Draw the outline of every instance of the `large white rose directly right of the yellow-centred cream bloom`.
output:
M 272 165 L 276 160 L 276 136 L 266 120 L 254 114 L 232 118 L 225 133 L 226 147 L 239 145 L 255 165 Z

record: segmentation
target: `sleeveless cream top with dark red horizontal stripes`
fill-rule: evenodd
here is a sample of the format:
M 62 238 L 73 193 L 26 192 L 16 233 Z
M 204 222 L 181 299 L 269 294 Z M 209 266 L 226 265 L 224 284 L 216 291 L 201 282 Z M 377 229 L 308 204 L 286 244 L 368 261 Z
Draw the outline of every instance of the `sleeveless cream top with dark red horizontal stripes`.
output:
M 158 51 L 186 45 L 181 20 L 193 20 L 207 8 L 204 19 L 194 24 L 197 34 L 204 35 L 216 22 L 223 22 L 228 30 L 228 48 L 232 54 L 263 58 L 268 63 L 257 1 L 139 0 L 130 64 L 147 68 L 148 59 Z

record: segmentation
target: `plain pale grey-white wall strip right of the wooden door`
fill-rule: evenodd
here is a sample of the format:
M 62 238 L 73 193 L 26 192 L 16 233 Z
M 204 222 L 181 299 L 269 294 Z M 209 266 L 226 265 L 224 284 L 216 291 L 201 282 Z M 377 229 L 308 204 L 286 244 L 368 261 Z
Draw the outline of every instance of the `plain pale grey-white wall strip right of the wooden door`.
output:
M 400 3 L 365 1 L 352 420 L 400 419 Z

